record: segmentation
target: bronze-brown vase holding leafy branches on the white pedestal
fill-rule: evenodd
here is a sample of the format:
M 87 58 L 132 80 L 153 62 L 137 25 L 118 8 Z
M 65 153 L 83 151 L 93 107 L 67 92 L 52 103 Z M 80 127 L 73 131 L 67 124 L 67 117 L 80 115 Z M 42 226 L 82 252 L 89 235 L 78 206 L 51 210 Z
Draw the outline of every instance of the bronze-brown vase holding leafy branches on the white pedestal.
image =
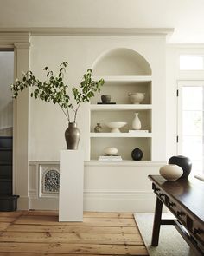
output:
M 65 140 L 67 142 L 67 149 L 78 149 L 80 141 L 80 129 L 77 128 L 76 122 L 68 123 L 68 128 L 65 131 Z

